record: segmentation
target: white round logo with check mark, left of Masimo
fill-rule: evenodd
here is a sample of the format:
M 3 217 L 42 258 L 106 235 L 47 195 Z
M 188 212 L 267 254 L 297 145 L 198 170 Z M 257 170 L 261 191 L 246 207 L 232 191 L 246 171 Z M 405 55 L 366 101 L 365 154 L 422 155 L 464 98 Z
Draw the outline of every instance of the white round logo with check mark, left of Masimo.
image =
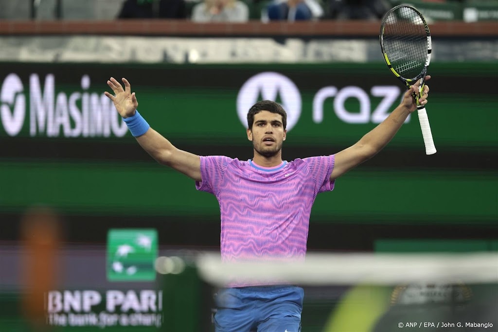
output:
M 5 132 L 15 136 L 21 131 L 26 113 L 26 99 L 21 79 L 15 74 L 9 74 L 0 90 L 0 118 Z M 13 110 L 11 110 L 13 107 Z

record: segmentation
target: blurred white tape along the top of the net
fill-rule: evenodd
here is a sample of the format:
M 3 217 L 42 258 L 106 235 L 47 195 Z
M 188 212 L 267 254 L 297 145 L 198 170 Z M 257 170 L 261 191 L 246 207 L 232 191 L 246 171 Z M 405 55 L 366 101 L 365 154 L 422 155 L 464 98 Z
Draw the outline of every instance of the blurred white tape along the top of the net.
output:
M 202 279 L 224 286 L 233 279 L 285 280 L 300 285 L 395 285 L 402 283 L 498 283 L 498 252 L 429 254 L 308 253 L 305 262 L 222 263 L 203 253 Z

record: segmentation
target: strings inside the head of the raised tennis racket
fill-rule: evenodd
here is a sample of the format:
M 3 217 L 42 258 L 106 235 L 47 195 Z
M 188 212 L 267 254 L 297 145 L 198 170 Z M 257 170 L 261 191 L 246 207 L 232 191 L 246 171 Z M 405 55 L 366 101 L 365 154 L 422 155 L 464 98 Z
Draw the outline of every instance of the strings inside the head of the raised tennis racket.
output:
M 392 68 L 403 78 L 416 78 L 427 59 L 427 33 L 420 15 L 400 7 L 385 20 L 382 34 L 384 51 Z

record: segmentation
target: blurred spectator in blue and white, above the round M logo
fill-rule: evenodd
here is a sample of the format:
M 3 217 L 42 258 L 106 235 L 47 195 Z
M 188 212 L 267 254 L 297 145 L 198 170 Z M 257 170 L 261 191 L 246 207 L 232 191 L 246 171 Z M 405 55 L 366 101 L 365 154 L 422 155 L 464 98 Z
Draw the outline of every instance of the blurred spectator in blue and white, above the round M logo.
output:
M 322 6 L 316 0 L 273 0 L 262 20 L 310 20 L 323 15 Z M 267 17 L 265 17 L 265 15 Z

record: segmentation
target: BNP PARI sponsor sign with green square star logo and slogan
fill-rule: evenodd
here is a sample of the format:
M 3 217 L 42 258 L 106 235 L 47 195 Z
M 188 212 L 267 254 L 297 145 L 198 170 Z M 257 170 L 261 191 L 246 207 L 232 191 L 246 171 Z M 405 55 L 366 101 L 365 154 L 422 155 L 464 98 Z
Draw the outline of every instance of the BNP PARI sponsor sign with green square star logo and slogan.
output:
M 158 236 L 155 229 L 110 229 L 107 238 L 106 276 L 97 288 L 51 289 L 45 294 L 46 324 L 51 327 L 160 328 L 163 290 L 156 280 Z M 163 257 L 164 258 L 164 257 Z M 95 269 L 89 259 L 82 269 Z M 71 266 L 75 268 L 74 266 Z M 94 279 L 102 279 L 95 269 Z M 138 286 L 132 283 L 139 282 Z M 73 280 L 69 281 L 73 284 Z M 94 285 L 96 282 L 87 283 Z M 107 289 L 106 289 L 107 288 Z M 168 294 L 171 297 L 171 294 Z M 147 330 L 148 331 L 148 330 Z

